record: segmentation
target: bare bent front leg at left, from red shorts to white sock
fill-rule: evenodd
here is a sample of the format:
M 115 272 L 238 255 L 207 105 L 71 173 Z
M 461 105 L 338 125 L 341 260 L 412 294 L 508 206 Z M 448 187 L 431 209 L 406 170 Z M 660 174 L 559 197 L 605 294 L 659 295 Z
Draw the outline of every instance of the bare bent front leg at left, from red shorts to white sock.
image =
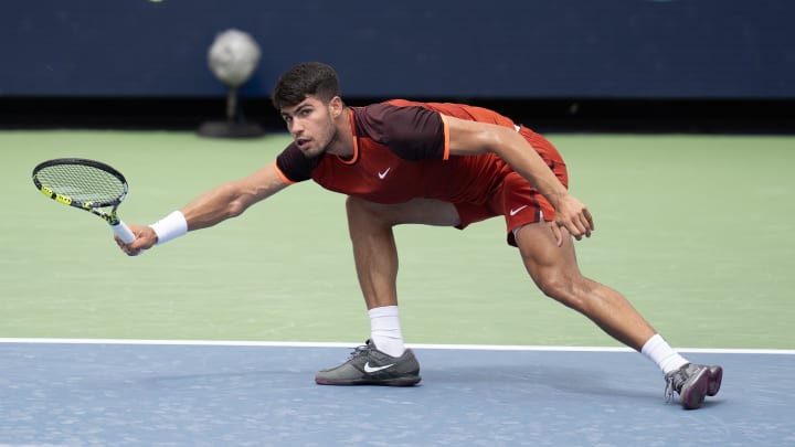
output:
M 353 260 L 368 309 L 398 305 L 398 248 L 392 233 L 394 225 L 418 223 L 453 226 L 459 222 L 454 205 L 428 199 L 384 205 L 348 198 L 346 207 Z

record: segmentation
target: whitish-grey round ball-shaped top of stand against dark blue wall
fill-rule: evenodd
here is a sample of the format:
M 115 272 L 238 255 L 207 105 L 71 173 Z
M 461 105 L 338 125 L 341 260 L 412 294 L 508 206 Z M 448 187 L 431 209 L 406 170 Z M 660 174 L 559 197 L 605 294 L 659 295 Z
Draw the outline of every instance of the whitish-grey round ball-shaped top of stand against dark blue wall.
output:
M 226 30 L 215 36 L 208 60 L 215 77 L 230 87 L 239 87 L 259 63 L 259 45 L 243 31 Z

